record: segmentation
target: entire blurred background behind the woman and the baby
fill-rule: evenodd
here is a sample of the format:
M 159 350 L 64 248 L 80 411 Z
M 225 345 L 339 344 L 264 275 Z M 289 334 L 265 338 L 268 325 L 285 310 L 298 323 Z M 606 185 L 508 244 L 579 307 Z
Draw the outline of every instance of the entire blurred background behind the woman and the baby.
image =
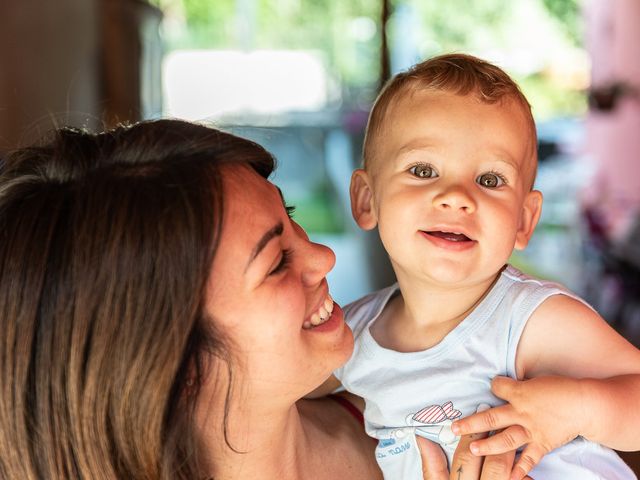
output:
M 0 156 L 53 125 L 161 116 L 251 137 L 336 251 L 346 303 L 393 281 L 348 202 L 380 86 L 472 53 L 520 83 L 538 124 L 544 211 L 513 263 L 640 343 L 639 45 L 638 0 L 1 0 Z

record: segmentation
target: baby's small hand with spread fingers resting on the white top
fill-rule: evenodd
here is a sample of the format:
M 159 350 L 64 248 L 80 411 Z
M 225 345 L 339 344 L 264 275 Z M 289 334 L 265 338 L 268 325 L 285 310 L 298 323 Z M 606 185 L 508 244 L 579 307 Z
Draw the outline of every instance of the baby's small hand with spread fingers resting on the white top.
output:
M 491 390 L 508 403 L 458 420 L 451 428 L 456 435 L 504 429 L 472 442 L 474 455 L 495 455 L 526 445 L 514 465 L 512 480 L 523 478 L 544 455 L 579 435 L 579 380 L 538 377 L 517 381 L 496 377 Z

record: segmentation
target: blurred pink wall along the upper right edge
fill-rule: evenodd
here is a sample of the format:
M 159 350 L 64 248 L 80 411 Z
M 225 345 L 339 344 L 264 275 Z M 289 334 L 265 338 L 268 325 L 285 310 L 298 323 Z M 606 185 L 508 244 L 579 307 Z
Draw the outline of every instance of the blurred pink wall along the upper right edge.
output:
M 640 212 L 640 2 L 590 0 L 585 17 L 592 63 L 586 149 L 595 174 L 583 201 L 604 217 L 615 242 Z

